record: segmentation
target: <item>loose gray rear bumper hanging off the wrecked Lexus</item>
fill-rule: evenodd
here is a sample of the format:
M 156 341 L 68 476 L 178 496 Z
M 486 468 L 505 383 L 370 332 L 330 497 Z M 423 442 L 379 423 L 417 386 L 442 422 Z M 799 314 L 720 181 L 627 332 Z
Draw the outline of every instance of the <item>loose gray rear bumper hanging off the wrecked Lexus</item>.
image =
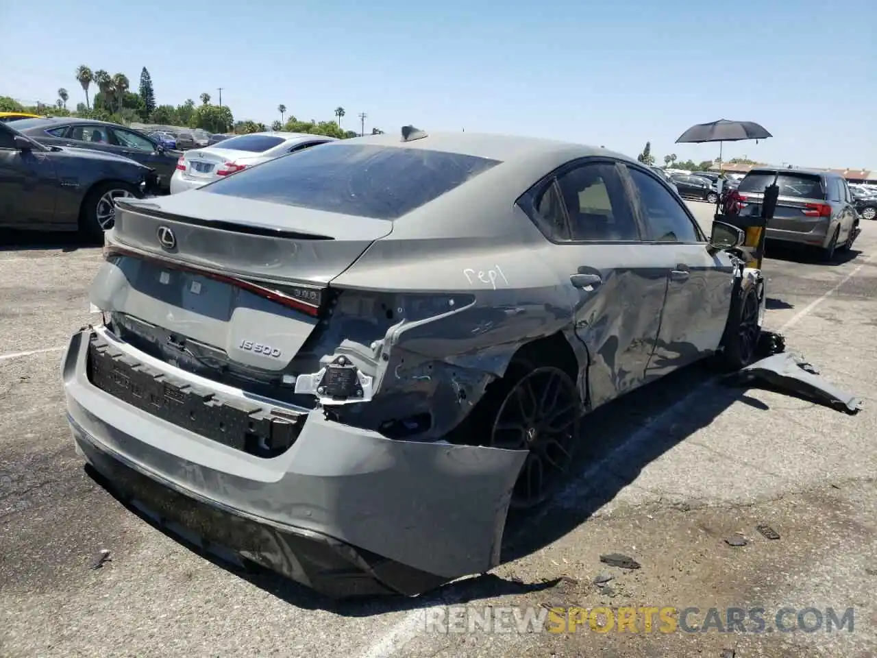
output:
M 107 336 L 82 329 L 62 361 L 74 440 L 111 489 L 166 519 L 171 532 L 330 597 L 415 595 L 498 563 L 523 451 L 390 440 L 317 409 L 286 452 L 247 454 L 144 411 L 178 404 L 194 416 L 187 405 L 195 400 L 229 433 L 239 421 L 235 402 L 211 397 L 194 375 L 175 385 L 159 373 L 155 388 L 142 386 L 153 364 Z M 115 353 L 114 383 L 139 382 L 126 389 L 136 404 L 92 382 L 89 360 L 100 348 Z

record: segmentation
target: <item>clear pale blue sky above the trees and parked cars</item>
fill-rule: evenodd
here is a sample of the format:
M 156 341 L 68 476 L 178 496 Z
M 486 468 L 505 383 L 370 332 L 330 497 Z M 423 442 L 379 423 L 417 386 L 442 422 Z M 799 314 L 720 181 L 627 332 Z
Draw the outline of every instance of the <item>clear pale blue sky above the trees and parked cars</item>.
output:
M 84 100 L 77 65 L 149 69 L 160 104 L 207 91 L 236 119 L 359 130 L 506 132 L 662 161 L 718 118 L 774 138 L 724 147 L 774 164 L 877 169 L 877 4 L 815 0 L 300 0 L 0 3 L 0 95 Z M 151 17 L 147 19 L 146 17 Z M 97 27 L 95 27 L 97 25 Z M 94 92 L 92 92 L 94 93 Z

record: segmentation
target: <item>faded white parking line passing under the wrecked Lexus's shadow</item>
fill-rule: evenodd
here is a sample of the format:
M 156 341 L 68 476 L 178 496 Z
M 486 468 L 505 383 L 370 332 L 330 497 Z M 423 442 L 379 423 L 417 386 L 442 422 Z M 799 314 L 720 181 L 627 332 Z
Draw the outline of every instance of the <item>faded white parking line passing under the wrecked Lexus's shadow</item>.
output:
M 857 275 L 859 270 L 864 268 L 869 260 L 870 258 L 867 258 L 859 265 L 859 267 L 853 269 L 850 274 L 841 279 L 838 285 L 834 286 L 834 288 L 826 292 L 824 295 L 814 299 L 802 308 L 801 311 L 795 313 L 795 316 L 790 318 L 784 325 L 781 325 L 777 331 L 782 333 L 798 324 L 798 322 L 813 312 L 814 309 L 816 309 L 816 306 L 822 304 L 828 297 L 831 297 L 831 295 L 836 293 L 841 286 L 852 279 L 853 276 Z M 668 422 L 673 421 L 675 418 L 679 418 L 683 414 L 690 413 L 692 400 L 695 397 L 702 395 L 702 393 L 710 386 L 715 385 L 721 376 L 722 375 L 716 375 L 715 377 L 710 377 L 700 386 L 689 391 L 686 396 L 681 397 L 681 399 L 677 400 L 674 404 L 671 404 L 667 409 L 660 411 L 660 413 L 649 418 L 645 425 L 640 426 L 636 432 L 632 433 L 626 440 L 624 440 L 624 443 L 614 448 L 600 461 L 592 464 L 581 474 L 581 476 L 577 477 L 572 483 L 570 483 L 566 489 L 560 491 L 560 494 L 554 498 L 551 504 L 545 506 L 545 510 L 537 515 L 531 525 L 538 524 L 540 519 L 545 518 L 547 514 L 556 511 L 558 508 L 569 509 L 570 506 L 587 498 L 590 493 L 589 483 L 593 481 L 595 476 L 608 468 L 611 463 L 617 461 L 618 457 L 624 452 L 624 450 L 630 450 L 631 447 L 643 445 L 643 443 L 649 440 L 652 436 L 663 435 L 661 426 L 665 426 Z M 424 620 L 430 610 L 437 609 L 441 605 L 453 603 L 453 601 L 446 601 L 442 604 L 427 604 L 417 610 L 409 612 L 396 624 L 396 626 L 390 628 L 389 632 L 384 633 L 380 640 L 374 643 L 371 647 L 368 647 L 366 652 L 361 654 L 360 658 L 390 658 L 390 656 L 396 654 L 396 651 L 405 647 L 405 645 L 417 637 L 420 630 L 424 628 Z

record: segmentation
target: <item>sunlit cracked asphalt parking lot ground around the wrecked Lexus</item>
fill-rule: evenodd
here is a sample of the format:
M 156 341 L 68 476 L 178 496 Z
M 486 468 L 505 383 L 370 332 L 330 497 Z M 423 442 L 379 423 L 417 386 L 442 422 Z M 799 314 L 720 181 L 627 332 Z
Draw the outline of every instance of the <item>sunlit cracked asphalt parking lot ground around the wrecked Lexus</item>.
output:
M 709 206 L 691 205 L 708 223 Z M 205 559 L 86 475 L 59 361 L 89 322 L 100 248 L 0 244 L 0 656 L 877 655 L 877 223 L 865 224 L 834 264 L 783 251 L 765 265 L 768 327 L 863 397 L 864 411 L 731 388 L 690 368 L 588 420 L 577 475 L 515 522 L 507 561 L 489 575 L 334 606 Z M 734 533 L 748 544 L 729 546 Z M 101 549 L 111 561 L 91 569 Z M 641 568 L 601 564 L 611 553 Z M 592 584 L 603 574 L 608 586 Z M 693 626 L 709 608 L 761 607 L 767 630 L 444 633 L 449 604 L 467 615 L 696 607 Z M 771 633 L 784 607 L 853 608 L 854 628 Z

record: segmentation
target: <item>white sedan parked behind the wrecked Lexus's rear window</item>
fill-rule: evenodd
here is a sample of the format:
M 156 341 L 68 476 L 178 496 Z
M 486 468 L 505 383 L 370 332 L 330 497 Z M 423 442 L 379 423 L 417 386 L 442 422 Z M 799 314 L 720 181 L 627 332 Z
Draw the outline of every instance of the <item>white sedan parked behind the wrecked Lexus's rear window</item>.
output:
M 225 139 L 213 147 L 192 149 L 177 161 L 170 193 L 194 190 L 241 169 L 327 141 L 335 138 L 305 132 L 253 132 Z

